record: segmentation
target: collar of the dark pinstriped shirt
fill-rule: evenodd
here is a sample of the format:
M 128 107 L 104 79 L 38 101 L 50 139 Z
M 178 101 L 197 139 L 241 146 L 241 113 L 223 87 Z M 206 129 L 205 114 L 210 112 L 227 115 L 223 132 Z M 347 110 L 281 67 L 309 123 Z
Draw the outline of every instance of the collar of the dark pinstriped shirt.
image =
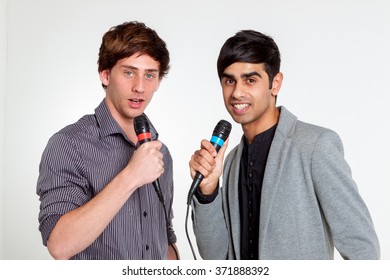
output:
M 106 99 L 103 99 L 100 102 L 99 106 L 95 109 L 96 120 L 100 128 L 100 136 L 106 137 L 113 134 L 122 134 L 125 139 L 127 139 L 126 133 L 124 133 L 123 129 L 119 126 L 117 121 L 111 115 L 110 110 L 107 107 Z M 152 140 L 158 139 L 157 130 L 154 128 L 153 124 L 149 120 L 149 118 L 143 114 L 149 122 L 150 133 Z M 128 140 L 128 139 L 127 139 Z M 129 140 L 128 140 L 129 141 Z

